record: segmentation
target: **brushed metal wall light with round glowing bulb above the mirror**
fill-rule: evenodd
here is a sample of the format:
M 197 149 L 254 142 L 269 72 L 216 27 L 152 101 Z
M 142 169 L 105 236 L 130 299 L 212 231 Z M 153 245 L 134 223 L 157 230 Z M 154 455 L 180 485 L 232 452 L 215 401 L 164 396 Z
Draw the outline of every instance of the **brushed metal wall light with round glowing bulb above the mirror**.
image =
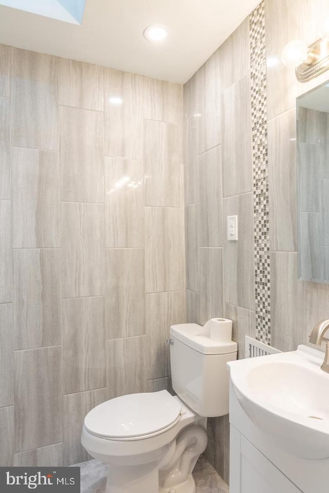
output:
M 296 67 L 296 77 L 307 82 L 329 69 L 329 17 L 322 26 L 321 37 L 307 46 L 303 41 L 290 41 L 282 50 L 282 63 Z

